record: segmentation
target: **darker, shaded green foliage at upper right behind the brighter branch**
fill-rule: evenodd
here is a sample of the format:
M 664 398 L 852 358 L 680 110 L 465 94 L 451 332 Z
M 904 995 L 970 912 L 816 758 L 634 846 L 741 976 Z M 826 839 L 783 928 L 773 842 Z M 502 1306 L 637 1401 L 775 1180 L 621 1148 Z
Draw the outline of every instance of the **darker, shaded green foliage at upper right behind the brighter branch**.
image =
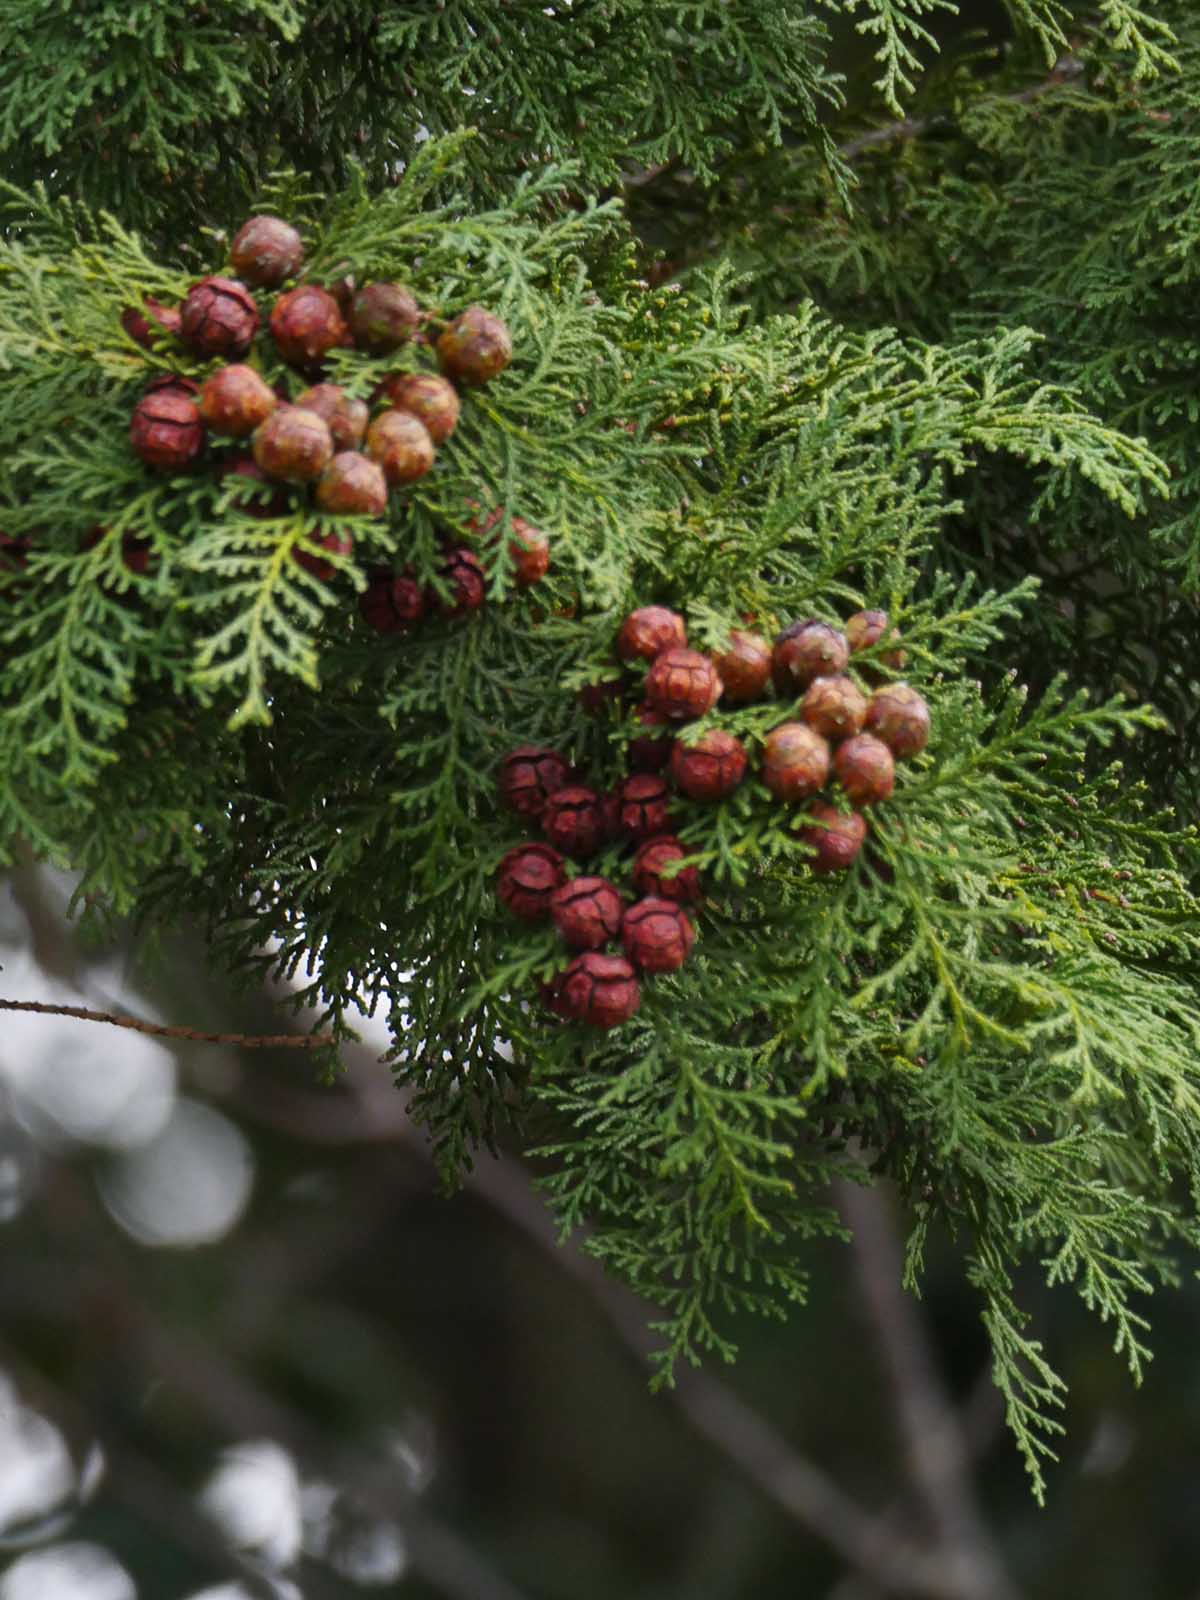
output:
M 1083 34 L 1050 75 L 1022 51 L 947 64 L 888 136 L 846 122 L 837 131 L 856 173 L 850 213 L 792 152 L 762 163 L 739 194 L 709 197 L 702 224 L 691 203 L 693 238 L 734 242 L 762 310 L 813 294 L 856 326 L 944 341 L 1030 326 L 1037 371 L 1147 440 L 1170 491 L 1146 494 L 1134 520 L 1075 491 L 1030 518 L 1024 469 L 989 466 L 965 488 L 966 515 L 939 558 L 1000 586 L 1042 578 L 1022 674 L 1040 685 L 1069 666 L 1098 688 L 1152 698 L 1170 731 L 1130 758 L 1190 811 L 1200 19 L 1186 5 L 1155 13 L 1174 43 L 1154 75 L 1128 48 Z M 781 190 L 789 203 L 773 211 L 765 200 Z

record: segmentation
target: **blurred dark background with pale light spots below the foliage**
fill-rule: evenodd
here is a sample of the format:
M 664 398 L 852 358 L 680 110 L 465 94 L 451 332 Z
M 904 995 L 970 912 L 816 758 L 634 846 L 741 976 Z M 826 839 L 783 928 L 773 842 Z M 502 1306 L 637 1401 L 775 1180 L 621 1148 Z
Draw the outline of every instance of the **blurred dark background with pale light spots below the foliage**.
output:
M 197 941 L 85 949 L 69 894 L 6 880 L 5 998 L 285 1029 Z M 1022 1285 L 1072 1386 L 1040 1510 L 954 1245 L 902 1294 L 885 1192 L 842 1197 L 806 1309 L 653 1395 L 653 1310 L 515 1157 L 438 1192 L 382 1045 L 323 1086 L 302 1050 L 0 1013 L 0 1600 L 1200 1595 L 1192 1262 L 1141 1392 Z

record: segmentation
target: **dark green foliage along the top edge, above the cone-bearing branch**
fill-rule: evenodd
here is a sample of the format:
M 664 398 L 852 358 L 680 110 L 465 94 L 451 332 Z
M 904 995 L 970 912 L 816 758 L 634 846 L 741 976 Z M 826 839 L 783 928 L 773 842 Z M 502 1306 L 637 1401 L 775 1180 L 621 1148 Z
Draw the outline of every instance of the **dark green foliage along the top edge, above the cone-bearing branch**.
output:
M 1005 0 L 1046 62 L 1077 10 Z M 421 141 L 472 125 L 482 203 L 547 160 L 589 187 L 667 165 L 701 182 L 797 144 L 845 178 L 830 21 L 870 51 L 870 94 L 899 112 L 950 0 L 0 0 L 0 170 L 82 194 L 179 253 L 189 224 L 237 210 L 283 162 L 325 186 L 354 162 L 394 181 Z M 1166 30 L 1130 0 L 1106 37 L 1150 70 Z

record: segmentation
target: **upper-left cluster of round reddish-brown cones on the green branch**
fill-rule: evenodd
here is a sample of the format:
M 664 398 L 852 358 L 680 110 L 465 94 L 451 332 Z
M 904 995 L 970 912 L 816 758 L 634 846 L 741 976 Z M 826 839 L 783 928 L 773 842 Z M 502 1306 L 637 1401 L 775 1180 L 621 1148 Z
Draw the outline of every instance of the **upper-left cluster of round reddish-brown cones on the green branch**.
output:
M 410 342 L 427 344 L 427 317 L 400 283 L 358 288 L 347 277 L 330 286 L 298 283 L 283 290 L 264 326 L 251 291 L 278 290 L 302 261 L 304 245 L 294 227 L 280 218 L 254 216 L 230 245 L 237 278 L 194 283 L 178 309 L 154 299 L 141 310 L 126 309 L 125 331 L 146 349 L 178 341 L 195 357 L 226 363 L 203 384 L 173 373 L 152 379 L 134 406 L 130 443 L 158 472 L 197 466 L 210 437 L 248 445 L 251 454 L 222 453 L 213 458 L 213 467 L 219 477 L 234 474 L 262 485 L 253 496 L 251 515 L 274 517 L 288 509 L 285 491 L 267 493 L 278 483 L 310 486 L 314 504 L 330 515 L 382 517 L 389 494 L 422 478 L 437 459 L 437 446 L 454 432 L 461 410 L 454 386 L 480 386 L 502 373 L 512 358 L 512 339 L 499 317 L 470 306 L 437 339 L 440 373 L 389 373 L 371 403 L 358 400 L 325 381 L 331 352 L 355 349 L 376 358 Z M 248 360 L 259 338 L 269 338 L 274 354 L 309 379 L 306 389 L 293 397 L 288 386 L 272 387 L 262 378 Z M 320 544 L 339 557 L 354 549 L 346 530 L 331 530 Z M 317 578 L 334 576 L 336 568 L 323 557 L 298 550 L 296 560 Z M 450 550 L 443 578 L 450 600 L 432 595 L 443 616 L 461 616 L 483 603 L 483 571 L 470 550 Z M 414 614 L 403 584 L 390 573 L 373 574 L 371 598 L 363 605 L 371 626 L 390 632 L 424 614 L 430 597 L 421 595 Z

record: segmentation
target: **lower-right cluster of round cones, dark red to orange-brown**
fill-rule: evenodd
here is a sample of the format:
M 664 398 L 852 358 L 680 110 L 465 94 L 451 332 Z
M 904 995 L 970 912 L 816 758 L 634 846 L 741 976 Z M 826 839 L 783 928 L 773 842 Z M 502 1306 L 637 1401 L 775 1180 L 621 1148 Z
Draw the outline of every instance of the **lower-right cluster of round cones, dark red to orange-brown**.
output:
M 728 650 L 707 656 L 688 648 L 678 613 L 659 605 L 630 611 L 616 653 L 646 669 L 645 701 L 635 710 L 645 731 L 629 742 L 630 776 L 606 795 L 582 782 L 557 750 L 520 746 L 501 762 L 502 805 L 538 822 L 546 843 L 518 845 L 504 856 L 496 894 L 525 922 L 554 922 L 563 942 L 581 952 L 544 989 L 550 1010 L 614 1027 L 638 1008 L 638 971 L 677 971 L 686 960 L 694 930 L 683 902 L 699 898 L 699 878 L 694 867 L 677 866 L 688 851 L 672 834 L 672 782 L 688 800 L 725 800 L 746 779 L 749 757 L 726 728 L 709 726 L 691 742 L 670 730 L 707 717 L 722 696 L 744 706 L 773 686 L 781 699 L 798 701 L 797 718 L 766 734 L 760 778 L 786 805 L 814 802 L 797 824 L 813 851 L 813 872 L 851 866 L 867 834 L 862 810 L 891 795 L 894 762 L 917 755 L 930 736 L 930 710 L 914 688 L 883 683 L 867 696 L 846 672 L 854 651 L 880 640 L 891 645 L 883 661 L 902 667 L 898 634 L 883 611 L 856 613 L 845 632 L 816 618 L 792 622 L 774 646 L 734 630 Z M 862 675 L 874 677 L 872 669 L 864 666 Z M 619 680 L 589 686 L 584 702 L 600 709 L 614 690 L 621 693 Z M 816 798 L 830 776 L 851 810 Z M 566 869 L 566 858 L 587 861 L 619 840 L 637 846 L 630 877 L 640 899 L 629 907 L 606 878 L 568 877 Z M 618 941 L 624 954 L 605 954 Z

